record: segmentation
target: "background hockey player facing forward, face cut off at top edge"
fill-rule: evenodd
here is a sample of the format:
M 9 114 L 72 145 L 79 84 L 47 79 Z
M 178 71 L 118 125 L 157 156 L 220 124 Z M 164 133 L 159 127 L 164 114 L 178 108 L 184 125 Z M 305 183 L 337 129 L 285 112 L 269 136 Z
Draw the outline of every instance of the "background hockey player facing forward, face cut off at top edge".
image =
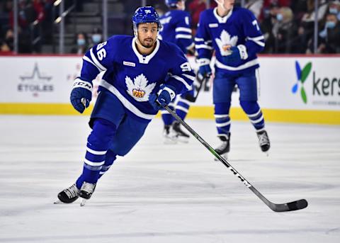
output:
M 257 102 L 256 53 L 265 45 L 264 38 L 253 13 L 234 7 L 234 0 L 215 0 L 217 7 L 200 14 L 195 43 L 199 59 L 199 72 L 211 74 L 210 60 L 215 50 L 215 79 L 213 103 L 217 136 L 222 144 L 216 152 L 227 157 L 230 147 L 229 109 L 234 86 L 239 88 L 239 102 L 254 125 L 263 152 L 270 148 L 264 119 Z

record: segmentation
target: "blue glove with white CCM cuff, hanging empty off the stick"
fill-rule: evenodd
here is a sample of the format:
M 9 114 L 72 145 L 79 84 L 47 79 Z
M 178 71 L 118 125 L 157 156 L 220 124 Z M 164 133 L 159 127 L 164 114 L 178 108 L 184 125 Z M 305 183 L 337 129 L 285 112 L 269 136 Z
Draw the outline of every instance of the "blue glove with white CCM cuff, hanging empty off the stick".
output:
M 74 80 L 71 91 L 71 103 L 74 109 L 83 113 L 88 108 L 92 99 L 92 82 L 84 81 L 79 78 Z

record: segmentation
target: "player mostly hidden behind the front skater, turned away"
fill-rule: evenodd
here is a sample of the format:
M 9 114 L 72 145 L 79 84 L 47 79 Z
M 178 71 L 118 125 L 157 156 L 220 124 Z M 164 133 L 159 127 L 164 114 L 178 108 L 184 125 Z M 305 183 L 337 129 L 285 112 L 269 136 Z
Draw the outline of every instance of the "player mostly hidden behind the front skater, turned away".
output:
M 161 40 L 178 45 L 183 53 L 194 53 L 193 37 L 191 33 L 191 17 L 188 12 L 184 11 L 184 0 L 165 0 L 166 6 L 169 7 L 167 11 L 161 17 L 162 29 L 159 33 Z M 190 95 L 193 93 L 193 89 L 188 91 Z M 177 97 L 174 102 L 169 104 L 170 108 L 174 108 L 176 105 L 176 113 L 183 120 L 186 118 L 188 109 L 190 108 L 190 101 L 186 99 L 188 94 L 182 94 Z M 189 135 L 183 132 L 181 125 L 174 119 L 172 115 L 166 110 L 162 109 L 162 119 L 164 122 L 164 137 L 166 143 L 188 142 Z

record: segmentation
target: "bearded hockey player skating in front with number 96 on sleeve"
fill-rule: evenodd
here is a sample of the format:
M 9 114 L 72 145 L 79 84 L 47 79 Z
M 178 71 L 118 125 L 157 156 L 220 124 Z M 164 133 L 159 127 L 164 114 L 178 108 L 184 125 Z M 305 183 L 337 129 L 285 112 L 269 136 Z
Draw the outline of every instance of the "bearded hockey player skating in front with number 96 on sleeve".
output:
M 191 88 L 195 74 L 183 52 L 158 40 L 161 28 L 154 8 L 132 17 L 135 37 L 115 35 L 91 48 L 83 57 L 81 75 L 74 81 L 71 103 L 82 113 L 89 106 L 92 80 L 105 71 L 91 113 L 83 172 L 74 185 L 58 194 L 62 203 L 91 198 L 98 179 L 117 156 L 124 156 L 140 140 L 159 108 Z M 160 104 L 160 105 L 159 105 Z

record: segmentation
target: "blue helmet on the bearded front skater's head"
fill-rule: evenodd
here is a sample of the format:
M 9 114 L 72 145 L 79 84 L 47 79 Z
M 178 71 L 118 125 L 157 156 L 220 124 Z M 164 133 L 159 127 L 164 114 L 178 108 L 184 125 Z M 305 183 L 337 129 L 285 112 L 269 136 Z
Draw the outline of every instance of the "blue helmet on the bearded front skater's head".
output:
M 132 16 L 132 23 L 134 28 L 137 28 L 140 23 L 157 23 L 158 28 L 161 28 L 159 15 L 152 6 L 138 8 Z

